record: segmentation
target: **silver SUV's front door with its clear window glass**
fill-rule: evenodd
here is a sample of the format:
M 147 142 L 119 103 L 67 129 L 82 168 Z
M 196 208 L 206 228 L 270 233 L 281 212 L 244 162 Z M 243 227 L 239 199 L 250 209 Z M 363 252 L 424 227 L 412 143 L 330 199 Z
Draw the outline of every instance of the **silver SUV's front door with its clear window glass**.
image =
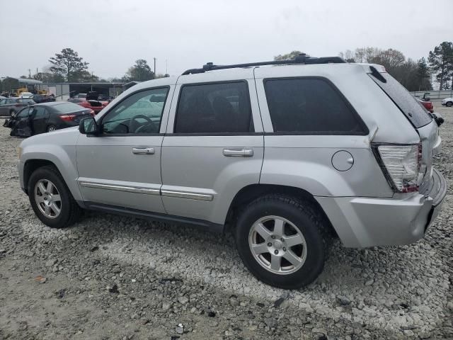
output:
M 98 119 L 101 135 L 79 137 L 78 181 L 85 201 L 165 213 L 161 145 L 171 90 L 165 86 L 130 94 Z

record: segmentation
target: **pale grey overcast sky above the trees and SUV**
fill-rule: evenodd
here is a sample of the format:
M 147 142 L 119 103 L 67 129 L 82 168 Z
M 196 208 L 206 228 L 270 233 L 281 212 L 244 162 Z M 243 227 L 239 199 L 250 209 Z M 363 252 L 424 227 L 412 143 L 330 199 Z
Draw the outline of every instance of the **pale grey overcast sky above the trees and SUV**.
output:
M 42 69 L 71 47 L 100 77 L 122 77 L 137 59 L 178 75 L 206 62 L 320 57 L 355 47 L 427 57 L 453 40 L 452 0 L 0 1 L 0 77 Z M 448 14 L 447 14 L 448 13 Z

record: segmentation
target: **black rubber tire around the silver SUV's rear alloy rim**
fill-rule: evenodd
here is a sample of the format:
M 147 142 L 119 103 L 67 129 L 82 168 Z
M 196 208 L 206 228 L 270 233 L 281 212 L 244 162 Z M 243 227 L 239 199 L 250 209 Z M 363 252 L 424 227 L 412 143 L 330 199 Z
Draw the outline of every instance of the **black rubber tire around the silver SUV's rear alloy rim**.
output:
M 248 244 L 251 227 L 261 217 L 274 215 L 292 222 L 306 241 L 306 259 L 294 273 L 277 274 L 258 263 Z M 235 230 L 239 256 L 258 280 L 284 289 L 302 288 L 312 283 L 324 268 L 328 257 L 330 235 L 326 221 L 312 203 L 306 200 L 273 194 L 253 200 L 239 214 Z

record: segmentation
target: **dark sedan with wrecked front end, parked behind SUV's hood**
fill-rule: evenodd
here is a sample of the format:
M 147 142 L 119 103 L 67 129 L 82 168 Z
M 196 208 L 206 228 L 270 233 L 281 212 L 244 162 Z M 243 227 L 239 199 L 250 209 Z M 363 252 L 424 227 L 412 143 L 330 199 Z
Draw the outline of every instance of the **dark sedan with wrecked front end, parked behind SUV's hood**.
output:
M 11 136 L 30 137 L 43 132 L 77 126 L 83 118 L 93 116 L 93 110 L 74 103 L 56 101 L 24 108 L 11 119 L 5 120 L 4 126 L 11 128 Z

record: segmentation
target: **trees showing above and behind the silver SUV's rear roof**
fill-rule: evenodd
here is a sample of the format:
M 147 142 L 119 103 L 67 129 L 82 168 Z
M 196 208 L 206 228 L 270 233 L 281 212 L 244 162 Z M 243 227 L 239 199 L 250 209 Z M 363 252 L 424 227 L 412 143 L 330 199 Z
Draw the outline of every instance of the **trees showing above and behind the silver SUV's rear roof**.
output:
M 286 55 L 277 55 L 275 60 L 293 59 L 300 51 L 292 51 Z M 340 52 L 345 62 L 367 62 L 381 64 L 386 71 L 398 80 L 408 91 L 432 90 L 431 76 L 435 76 L 441 90 L 452 89 L 453 83 L 453 42 L 442 42 L 429 52 L 428 58 L 412 60 L 402 52 L 389 48 L 382 50 L 377 47 L 359 47 L 354 51 Z

